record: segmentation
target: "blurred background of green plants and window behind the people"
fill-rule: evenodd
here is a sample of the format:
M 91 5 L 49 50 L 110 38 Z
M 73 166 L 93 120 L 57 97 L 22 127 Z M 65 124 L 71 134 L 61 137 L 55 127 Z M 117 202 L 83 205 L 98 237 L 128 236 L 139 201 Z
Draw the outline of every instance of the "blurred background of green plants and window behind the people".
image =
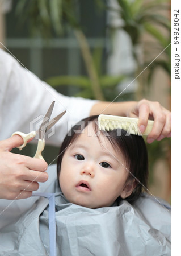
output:
M 0 0 L 0 42 L 62 94 L 170 109 L 168 0 Z M 170 138 L 147 146 L 149 190 L 170 202 Z M 44 158 L 58 151 L 46 146 Z

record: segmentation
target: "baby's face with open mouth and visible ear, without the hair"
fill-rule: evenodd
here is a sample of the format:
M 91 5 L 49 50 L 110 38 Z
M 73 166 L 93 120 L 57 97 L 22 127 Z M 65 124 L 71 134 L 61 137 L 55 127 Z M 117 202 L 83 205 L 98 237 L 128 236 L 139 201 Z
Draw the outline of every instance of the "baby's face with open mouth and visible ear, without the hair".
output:
M 90 136 L 88 129 L 65 151 L 60 187 L 71 203 L 92 209 L 107 207 L 117 197 L 131 195 L 129 173 L 121 152 L 116 152 L 103 135 L 98 139 L 92 131 Z

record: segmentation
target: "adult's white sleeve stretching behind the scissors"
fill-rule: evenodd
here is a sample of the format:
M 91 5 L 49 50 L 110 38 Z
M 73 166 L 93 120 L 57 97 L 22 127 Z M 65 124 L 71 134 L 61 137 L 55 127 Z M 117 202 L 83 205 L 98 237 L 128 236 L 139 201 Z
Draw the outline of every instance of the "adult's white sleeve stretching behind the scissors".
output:
M 60 146 L 70 121 L 87 117 L 96 101 L 63 96 L 0 49 L 0 140 L 9 138 L 14 131 L 28 133 L 36 129 L 53 100 L 56 103 L 52 118 L 64 110 L 66 114 L 46 143 Z

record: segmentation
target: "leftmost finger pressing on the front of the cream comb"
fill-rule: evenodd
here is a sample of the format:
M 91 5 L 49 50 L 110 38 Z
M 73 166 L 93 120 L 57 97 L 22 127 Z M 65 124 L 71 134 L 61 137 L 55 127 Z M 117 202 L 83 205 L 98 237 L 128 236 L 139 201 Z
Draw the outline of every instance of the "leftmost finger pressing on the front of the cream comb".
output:
M 140 105 L 138 127 L 141 133 L 144 133 L 146 129 L 148 118 L 149 118 L 149 112 L 150 112 L 150 108 L 148 104 L 144 103 Z

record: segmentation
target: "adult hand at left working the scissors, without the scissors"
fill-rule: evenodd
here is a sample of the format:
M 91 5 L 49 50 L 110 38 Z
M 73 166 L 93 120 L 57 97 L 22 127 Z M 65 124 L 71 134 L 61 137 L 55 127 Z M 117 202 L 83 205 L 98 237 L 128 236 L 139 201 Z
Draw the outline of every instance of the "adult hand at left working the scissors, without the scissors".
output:
M 39 188 L 38 182 L 48 180 L 48 164 L 41 159 L 13 154 L 14 147 L 23 144 L 19 135 L 0 142 L 0 198 L 24 199 Z

